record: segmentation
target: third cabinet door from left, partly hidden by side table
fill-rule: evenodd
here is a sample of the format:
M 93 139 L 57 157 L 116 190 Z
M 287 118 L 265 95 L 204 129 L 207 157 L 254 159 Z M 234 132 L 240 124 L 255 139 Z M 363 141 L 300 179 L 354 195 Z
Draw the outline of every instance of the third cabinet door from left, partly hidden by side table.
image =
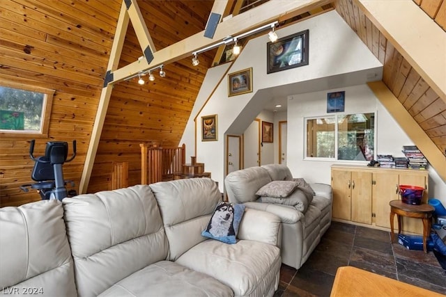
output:
M 374 172 L 373 213 L 375 224 L 379 227 L 390 228 L 390 205 L 392 200 L 398 200 L 398 172 Z M 397 226 L 395 217 L 394 225 Z

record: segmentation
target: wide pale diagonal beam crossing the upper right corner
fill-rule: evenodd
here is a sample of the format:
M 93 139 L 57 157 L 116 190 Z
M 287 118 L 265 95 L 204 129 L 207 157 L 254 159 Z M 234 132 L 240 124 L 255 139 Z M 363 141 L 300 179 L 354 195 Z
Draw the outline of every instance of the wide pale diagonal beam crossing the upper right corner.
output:
M 446 32 L 413 1 L 355 3 L 446 102 Z

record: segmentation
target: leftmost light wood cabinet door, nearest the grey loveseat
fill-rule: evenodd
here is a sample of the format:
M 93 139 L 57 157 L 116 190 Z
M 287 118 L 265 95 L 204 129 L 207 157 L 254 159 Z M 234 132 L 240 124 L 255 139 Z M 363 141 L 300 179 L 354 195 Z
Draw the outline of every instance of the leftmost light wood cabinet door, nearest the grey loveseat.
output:
M 332 170 L 333 218 L 351 220 L 351 172 Z

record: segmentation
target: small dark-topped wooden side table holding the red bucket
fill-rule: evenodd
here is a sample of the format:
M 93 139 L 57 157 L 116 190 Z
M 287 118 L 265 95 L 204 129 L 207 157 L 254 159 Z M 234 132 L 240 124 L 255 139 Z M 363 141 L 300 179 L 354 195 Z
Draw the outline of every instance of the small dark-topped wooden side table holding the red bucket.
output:
M 435 210 L 430 204 L 412 205 L 404 203 L 401 200 L 392 200 L 390 204 L 390 231 L 392 234 L 392 242 L 394 241 L 393 218 L 397 214 L 398 234 L 401 233 L 401 216 L 408 218 L 421 218 L 423 220 L 423 250 L 427 252 L 427 236 L 431 231 L 432 214 Z

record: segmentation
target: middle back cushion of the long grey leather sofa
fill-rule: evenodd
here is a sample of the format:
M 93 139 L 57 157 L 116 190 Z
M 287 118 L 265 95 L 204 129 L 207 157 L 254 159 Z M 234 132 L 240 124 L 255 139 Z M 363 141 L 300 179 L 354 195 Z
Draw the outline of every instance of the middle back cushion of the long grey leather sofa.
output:
M 63 207 L 80 296 L 97 296 L 167 258 L 160 209 L 147 185 L 65 198 Z

